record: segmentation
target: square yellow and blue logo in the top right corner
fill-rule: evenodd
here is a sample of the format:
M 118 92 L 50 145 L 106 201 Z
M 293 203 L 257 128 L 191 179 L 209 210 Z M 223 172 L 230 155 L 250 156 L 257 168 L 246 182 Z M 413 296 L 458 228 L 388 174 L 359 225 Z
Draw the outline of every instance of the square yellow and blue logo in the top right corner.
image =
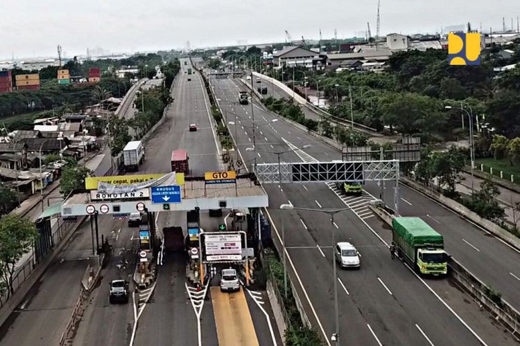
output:
M 449 33 L 450 65 L 480 65 L 480 33 Z

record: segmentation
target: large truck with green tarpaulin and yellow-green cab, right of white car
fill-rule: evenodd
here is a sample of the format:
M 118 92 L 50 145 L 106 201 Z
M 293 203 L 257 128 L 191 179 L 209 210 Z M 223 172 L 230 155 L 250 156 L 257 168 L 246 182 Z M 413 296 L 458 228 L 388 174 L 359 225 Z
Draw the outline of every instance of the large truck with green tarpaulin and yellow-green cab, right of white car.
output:
M 392 242 L 403 258 L 421 274 L 446 275 L 448 254 L 444 239 L 419 217 L 392 219 Z

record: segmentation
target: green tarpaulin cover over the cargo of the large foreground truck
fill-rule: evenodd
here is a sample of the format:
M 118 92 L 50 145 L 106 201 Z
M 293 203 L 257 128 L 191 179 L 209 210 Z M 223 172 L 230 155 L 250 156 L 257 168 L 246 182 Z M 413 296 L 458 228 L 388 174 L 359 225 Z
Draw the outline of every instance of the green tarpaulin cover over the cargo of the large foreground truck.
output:
M 411 246 L 444 244 L 442 235 L 419 217 L 395 217 L 392 219 L 392 228 Z

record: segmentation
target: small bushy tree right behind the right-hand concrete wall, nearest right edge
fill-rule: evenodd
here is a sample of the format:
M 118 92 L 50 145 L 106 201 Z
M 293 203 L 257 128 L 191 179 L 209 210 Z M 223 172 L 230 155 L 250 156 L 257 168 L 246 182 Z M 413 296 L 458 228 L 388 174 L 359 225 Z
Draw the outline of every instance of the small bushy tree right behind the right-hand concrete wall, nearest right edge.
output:
M 504 208 L 496 200 L 500 195 L 500 190 L 490 179 L 480 183 L 480 190 L 471 195 L 471 200 L 465 201 L 467 208 L 476 212 L 480 217 L 497 221 L 505 215 Z

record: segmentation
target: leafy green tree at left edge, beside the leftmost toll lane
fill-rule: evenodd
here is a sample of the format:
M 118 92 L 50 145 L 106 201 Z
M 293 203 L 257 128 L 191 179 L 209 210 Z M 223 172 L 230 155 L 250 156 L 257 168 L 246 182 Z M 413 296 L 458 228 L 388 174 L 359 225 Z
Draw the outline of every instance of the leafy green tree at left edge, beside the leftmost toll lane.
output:
M 8 214 L 0 219 L 0 271 L 8 286 L 8 296 L 15 293 L 12 279 L 15 265 L 34 244 L 38 233 L 33 222 Z

